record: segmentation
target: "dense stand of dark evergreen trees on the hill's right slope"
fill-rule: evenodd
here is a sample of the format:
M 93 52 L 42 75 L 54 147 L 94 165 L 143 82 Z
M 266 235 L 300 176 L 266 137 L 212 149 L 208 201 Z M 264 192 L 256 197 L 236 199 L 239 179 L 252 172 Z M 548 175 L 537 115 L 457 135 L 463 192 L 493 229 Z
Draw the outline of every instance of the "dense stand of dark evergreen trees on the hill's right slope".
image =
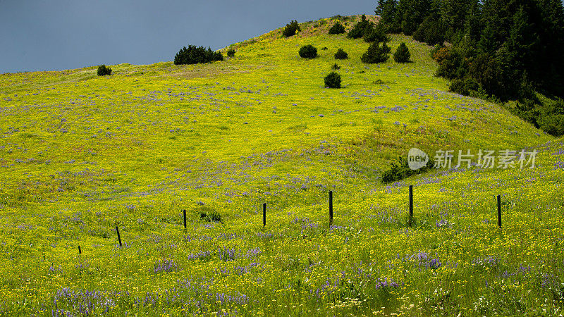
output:
M 515 114 L 564 135 L 560 0 L 379 0 L 375 13 L 386 32 L 435 46 L 436 75 L 452 92 L 517 101 Z

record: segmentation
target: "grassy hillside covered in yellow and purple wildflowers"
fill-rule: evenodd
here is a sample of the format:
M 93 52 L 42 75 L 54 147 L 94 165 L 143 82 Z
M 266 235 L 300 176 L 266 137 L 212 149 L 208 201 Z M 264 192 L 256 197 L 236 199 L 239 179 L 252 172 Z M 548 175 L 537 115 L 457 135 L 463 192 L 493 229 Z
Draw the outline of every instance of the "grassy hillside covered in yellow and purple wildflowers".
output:
M 0 75 L 0 315 L 561 313 L 564 140 L 447 92 L 410 37 L 413 63 L 360 63 L 334 20 L 206 65 Z M 382 185 L 412 147 L 539 154 Z

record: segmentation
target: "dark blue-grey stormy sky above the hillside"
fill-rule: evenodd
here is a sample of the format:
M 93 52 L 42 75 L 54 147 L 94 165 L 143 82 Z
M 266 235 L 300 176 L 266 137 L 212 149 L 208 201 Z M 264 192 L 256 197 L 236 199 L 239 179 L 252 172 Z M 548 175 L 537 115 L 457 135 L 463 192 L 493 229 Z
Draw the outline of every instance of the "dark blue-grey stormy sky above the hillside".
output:
M 374 14 L 376 1 L 0 0 L 0 73 L 172 61 L 290 20 Z

